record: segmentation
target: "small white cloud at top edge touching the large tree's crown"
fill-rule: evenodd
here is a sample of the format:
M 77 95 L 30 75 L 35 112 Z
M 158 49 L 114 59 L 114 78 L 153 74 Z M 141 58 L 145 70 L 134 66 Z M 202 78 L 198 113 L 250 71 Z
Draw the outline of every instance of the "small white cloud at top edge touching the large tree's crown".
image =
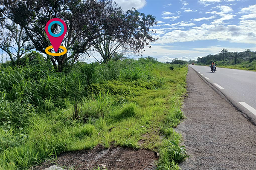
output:
M 118 3 L 124 11 L 131 9 L 132 7 L 136 9 L 143 8 L 146 5 L 146 0 L 114 0 Z

